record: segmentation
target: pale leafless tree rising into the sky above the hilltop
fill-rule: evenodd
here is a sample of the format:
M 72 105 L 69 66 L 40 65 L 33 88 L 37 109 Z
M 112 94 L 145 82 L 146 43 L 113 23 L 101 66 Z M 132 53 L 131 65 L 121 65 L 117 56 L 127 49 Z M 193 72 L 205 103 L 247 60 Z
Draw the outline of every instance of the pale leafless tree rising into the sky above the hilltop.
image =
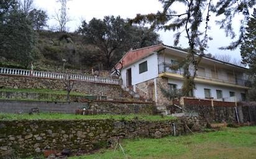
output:
M 57 12 L 55 11 L 54 19 L 57 20 L 59 24 L 59 30 L 60 32 L 64 32 L 66 30 L 66 23 L 70 22 L 70 18 L 66 14 L 66 2 L 68 0 L 58 0 L 57 2 L 60 2 L 62 4 L 60 10 Z

